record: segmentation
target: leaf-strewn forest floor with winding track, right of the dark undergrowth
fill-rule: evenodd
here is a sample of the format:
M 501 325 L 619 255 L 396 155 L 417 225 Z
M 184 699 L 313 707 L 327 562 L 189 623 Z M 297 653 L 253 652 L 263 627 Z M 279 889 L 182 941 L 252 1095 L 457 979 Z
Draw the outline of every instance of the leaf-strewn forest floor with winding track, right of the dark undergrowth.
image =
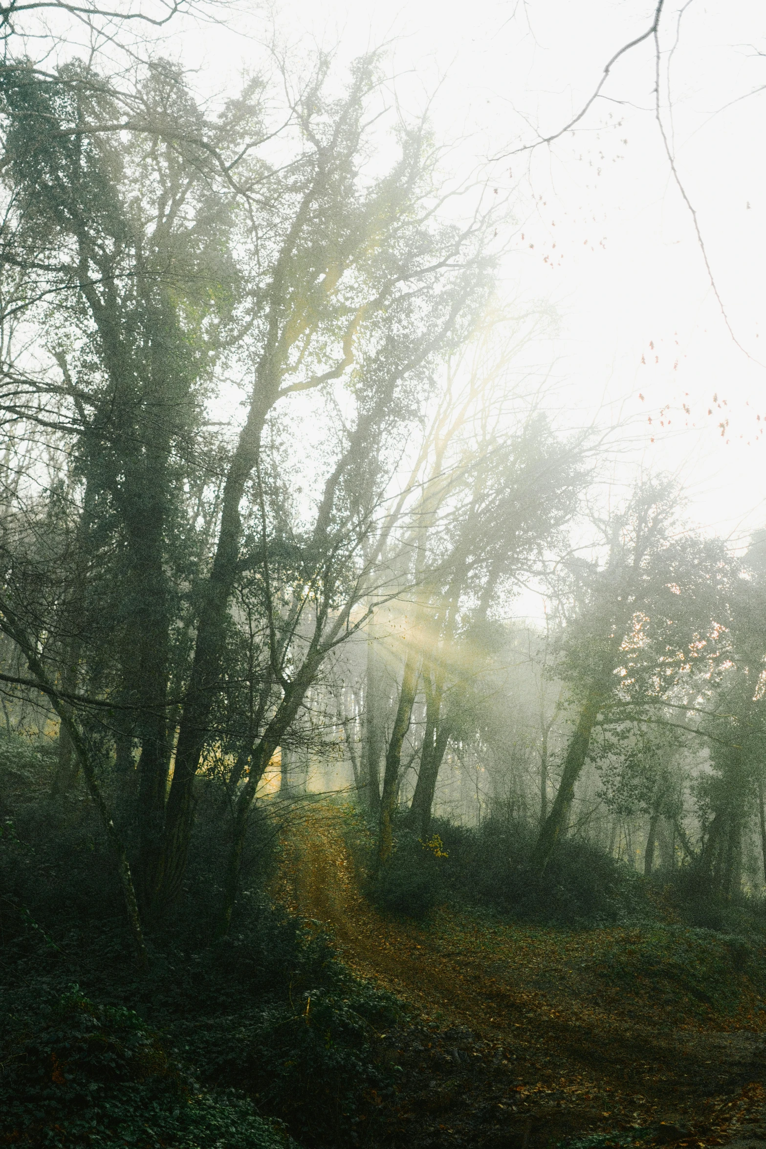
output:
M 766 998 L 746 974 L 727 997 L 670 911 L 580 931 L 448 907 L 392 918 L 361 893 L 346 825 L 330 803 L 292 819 L 273 893 L 409 1007 L 380 1035 L 402 1075 L 371 1144 L 764 1149 Z

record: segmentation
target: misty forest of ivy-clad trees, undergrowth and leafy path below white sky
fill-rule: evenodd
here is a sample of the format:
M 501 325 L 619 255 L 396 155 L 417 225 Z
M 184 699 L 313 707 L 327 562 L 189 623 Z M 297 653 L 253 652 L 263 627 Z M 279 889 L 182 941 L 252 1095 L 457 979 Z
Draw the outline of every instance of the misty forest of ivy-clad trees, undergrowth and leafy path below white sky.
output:
M 0 1143 L 757 1138 L 766 531 L 559 418 L 513 206 L 386 52 L 211 99 L 44 8 L 0 8 Z

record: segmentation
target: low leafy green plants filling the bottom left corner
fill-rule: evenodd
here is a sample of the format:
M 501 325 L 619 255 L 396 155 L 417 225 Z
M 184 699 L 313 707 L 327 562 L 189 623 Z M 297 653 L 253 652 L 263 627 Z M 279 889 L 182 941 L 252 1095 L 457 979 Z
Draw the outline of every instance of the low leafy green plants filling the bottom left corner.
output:
M 7 1143 L 137 1149 L 277 1149 L 289 1139 L 252 1102 L 200 1089 L 131 1010 L 72 986 L 13 1017 L 3 1034 L 0 1110 Z

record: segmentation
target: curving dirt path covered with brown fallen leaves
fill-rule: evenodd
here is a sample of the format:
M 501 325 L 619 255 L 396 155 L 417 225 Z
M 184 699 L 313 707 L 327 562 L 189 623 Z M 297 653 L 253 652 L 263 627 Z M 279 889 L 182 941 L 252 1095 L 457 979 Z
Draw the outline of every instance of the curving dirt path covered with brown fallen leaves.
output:
M 492 1066 L 492 1073 L 458 1082 L 466 1112 L 465 1136 L 455 1134 L 456 1143 L 520 1140 L 526 1146 L 575 1129 L 664 1121 L 665 1143 L 745 1138 L 743 1146 L 763 1149 L 760 1018 L 766 1015 L 757 1012 L 755 993 L 735 1016 L 721 1018 L 711 1010 L 701 1013 L 691 998 L 666 1001 L 667 994 L 658 995 L 640 978 L 616 986 L 599 973 L 598 958 L 605 942 L 625 946 L 626 931 L 535 930 L 492 918 L 478 923 L 451 910 L 439 911 L 427 926 L 382 917 L 359 893 L 340 816 L 331 805 L 311 807 L 286 832 L 276 893 L 330 932 L 355 973 L 392 990 L 423 1017 L 423 1033 L 434 1040 L 413 1043 L 412 1079 L 425 1093 L 410 1108 L 417 1111 L 423 1102 L 427 1111 L 428 1088 L 439 1092 L 439 1081 L 430 1078 L 439 1051 L 447 1049 L 455 1066 L 471 1058 L 472 1069 Z M 443 1032 L 446 1040 L 439 1036 Z M 394 1040 L 407 1043 L 401 1034 Z M 396 1054 L 407 1059 L 407 1049 Z M 416 1063 L 424 1057 L 418 1077 Z M 452 1082 L 451 1124 L 434 1118 L 446 1138 L 440 1142 L 436 1135 L 434 1144 L 446 1144 L 447 1133 L 461 1124 L 455 1089 Z M 477 1106 L 483 1111 L 487 1104 L 494 1125 L 508 1116 L 505 1140 L 481 1140 L 475 1132 L 471 1113 L 475 1118 Z

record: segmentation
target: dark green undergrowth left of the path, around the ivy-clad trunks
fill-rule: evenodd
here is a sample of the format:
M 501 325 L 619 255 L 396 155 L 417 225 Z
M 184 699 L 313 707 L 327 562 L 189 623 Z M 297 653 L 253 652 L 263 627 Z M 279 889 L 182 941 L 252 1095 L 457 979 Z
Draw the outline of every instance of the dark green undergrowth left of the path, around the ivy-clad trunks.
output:
M 353 977 L 314 924 L 265 896 L 274 823 L 252 819 L 241 897 L 216 941 L 226 805 L 200 786 L 184 896 L 149 931 L 140 973 L 91 803 L 79 789 L 51 796 L 47 748 L 16 749 L 3 756 L 0 745 L 0 1139 L 56 1149 L 362 1143 L 399 1085 L 379 1034 L 404 1015 Z M 109 796 L 127 826 L 130 792 Z

